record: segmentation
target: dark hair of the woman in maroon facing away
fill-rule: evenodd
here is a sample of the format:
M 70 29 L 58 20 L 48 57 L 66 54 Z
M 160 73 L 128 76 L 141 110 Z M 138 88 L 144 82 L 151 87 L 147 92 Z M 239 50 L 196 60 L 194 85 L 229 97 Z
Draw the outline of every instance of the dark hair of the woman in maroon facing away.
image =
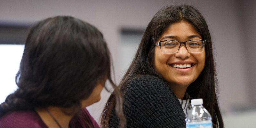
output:
M 110 61 L 102 33 L 89 23 L 70 16 L 37 22 L 26 39 L 16 75 L 18 89 L 0 105 L 0 118 L 47 106 L 72 108 L 68 114 L 74 114 L 81 109 L 81 100 L 107 77 L 122 120 L 122 98 L 111 79 Z

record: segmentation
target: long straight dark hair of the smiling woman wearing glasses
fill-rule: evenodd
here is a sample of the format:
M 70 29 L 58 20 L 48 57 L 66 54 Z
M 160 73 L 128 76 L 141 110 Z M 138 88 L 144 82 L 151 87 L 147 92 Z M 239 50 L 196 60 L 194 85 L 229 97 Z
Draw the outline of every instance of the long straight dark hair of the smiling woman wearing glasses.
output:
M 204 100 L 204 107 L 210 112 L 213 117 L 214 127 L 223 128 L 223 120 L 221 117 L 218 105 L 218 83 L 216 71 L 214 66 L 212 39 L 207 26 L 207 23 L 202 14 L 193 6 L 167 6 L 158 11 L 148 24 L 139 48 L 134 59 L 118 88 L 124 95 L 127 85 L 136 77 L 142 75 L 153 75 L 164 80 L 164 78 L 156 72 L 153 67 L 154 63 L 154 48 L 156 41 L 163 34 L 163 32 L 172 24 L 179 21 L 189 22 L 196 31 L 207 41 L 205 46 L 206 60 L 205 67 L 198 78 L 188 86 L 187 92 L 191 99 L 202 98 Z M 114 95 L 112 94 L 104 108 L 104 113 L 101 116 L 101 126 L 108 128 L 113 110 L 116 107 Z

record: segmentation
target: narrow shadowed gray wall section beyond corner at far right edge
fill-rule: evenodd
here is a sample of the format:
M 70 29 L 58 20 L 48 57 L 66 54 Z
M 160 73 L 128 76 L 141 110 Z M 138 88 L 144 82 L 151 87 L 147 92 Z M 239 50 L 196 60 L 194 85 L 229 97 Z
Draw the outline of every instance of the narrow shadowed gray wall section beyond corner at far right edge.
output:
M 247 93 L 251 104 L 256 106 L 256 1 L 248 0 L 240 5 L 240 30 L 241 42 L 244 48 L 244 66 L 246 67 L 246 77 L 248 80 Z

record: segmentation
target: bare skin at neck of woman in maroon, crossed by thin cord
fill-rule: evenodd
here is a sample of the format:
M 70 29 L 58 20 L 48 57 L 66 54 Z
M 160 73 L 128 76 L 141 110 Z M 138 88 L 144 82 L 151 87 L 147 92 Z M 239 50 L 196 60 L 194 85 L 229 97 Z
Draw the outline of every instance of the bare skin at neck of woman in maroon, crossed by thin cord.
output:
M 50 115 L 49 112 L 47 112 L 45 108 L 35 109 L 37 114 L 43 120 L 44 124 L 46 124 L 49 128 L 60 128 L 60 126 L 62 128 L 68 128 L 69 121 L 73 116 L 69 116 L 63 113 L 62 111 L 63 108 L 60 108 L 60 107 L 49 106 L 47 107 L 47 109 L 49 110 L 49 112 L 52 114 L 53 117 Z M 56 121 L 60 124 L 60 126 L 53 118 L 56 119 Z

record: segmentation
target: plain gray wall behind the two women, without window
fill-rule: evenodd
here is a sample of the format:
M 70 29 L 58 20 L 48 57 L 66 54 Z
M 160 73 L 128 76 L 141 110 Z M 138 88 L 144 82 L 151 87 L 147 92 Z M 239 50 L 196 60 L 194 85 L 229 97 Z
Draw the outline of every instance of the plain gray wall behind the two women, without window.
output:
M 122 59 L 134 52 L 119 54 L 120 48 L 123 47 L 120 43 L 120 29 L 144 29 L 161 7 L 179 3 L 196 6 L 208 22 L 215 48 L 220 84 L 219 103 L 222 112 L 230 113 L 236 106 L 248 106 L 252 104 L 252 99 L 255 102 L 254 1 L 244 3 L 240 0 L 1 0 L 0 22 L 30 24 L 56 15 L 71 15 L 85 20 L 104 34 L 112 53 L 116 81 L 119 81 L 125 70 L 123 65 L 127 65 L 127 61 Z M 101 96 L 100 102 L 88 107 L 96 119 L 99 118 L 109 93 L 103 91 Z

